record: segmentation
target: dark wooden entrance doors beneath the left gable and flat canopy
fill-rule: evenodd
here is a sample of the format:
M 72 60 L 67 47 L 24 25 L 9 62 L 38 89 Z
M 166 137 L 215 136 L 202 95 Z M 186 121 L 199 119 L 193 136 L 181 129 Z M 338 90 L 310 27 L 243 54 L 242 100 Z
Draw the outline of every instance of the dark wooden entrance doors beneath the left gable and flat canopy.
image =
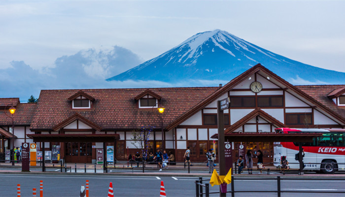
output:
M 66 142 L 65 161 L 68 163 L 91 163 L 92 142 Z

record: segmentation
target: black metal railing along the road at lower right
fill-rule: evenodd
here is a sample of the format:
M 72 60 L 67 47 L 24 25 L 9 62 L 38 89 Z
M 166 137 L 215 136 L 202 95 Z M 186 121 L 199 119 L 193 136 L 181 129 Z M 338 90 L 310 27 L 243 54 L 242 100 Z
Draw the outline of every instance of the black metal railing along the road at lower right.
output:
M 203 177 L 199 177 L 199 180 L 195 181 L 195 192 L 196 192 L 196 197 L 203 197 L 205 195 L 206 197 L 209 197 L 209 194 L 219 194 L 219 192 L 209 192 L 209 185 L 203 184 L 203 181 L 209 181 L 210 179 L 203 179 Z M 313 179 L 308 179 L 308 178 L 280 178 L 280 176 L 277 177 L 272 177 L 272 178 L 235 178 L 234 176 L 231 176 L 231 191 L 227 191 L 226 193 L 231 193 L 231 197 L 235 197 L 235 193 L 277 193 L 277 197 L 281 196 L 281 193 L 342 193 L 345 194 L 345 191 L 291 191 L 291 190 L 281 190 L 280 186 L 280 181 L 281 180 L 342 180 L 344 181 L 345 179 L 329 179 L 329 178 L 313 178 Z M 235 190 L 235 180 L 276 180 L 276 190 L 271 190 L 271 191 L 236 191 Z M 203 187 L 205 187 L 205 193 L 203 192 Z

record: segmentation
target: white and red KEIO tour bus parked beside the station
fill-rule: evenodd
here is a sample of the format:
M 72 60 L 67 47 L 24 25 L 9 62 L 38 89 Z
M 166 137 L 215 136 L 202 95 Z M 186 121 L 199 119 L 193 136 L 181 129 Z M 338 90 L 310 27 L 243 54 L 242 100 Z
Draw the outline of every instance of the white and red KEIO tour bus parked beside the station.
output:
M 302 143 L 305 156 L 304 170 L 320 170 L 333 173 L 334 170 L 345 170 L 345 129 L 290 129 L 278 128 L 276 133 L 322 133 L 312 142 Z M 274 165 L 279 166 L 282 156 L 286 157 L 290 168 L 299 168 L 295 160 L 299 152 L 298 142 L 274 142 Z M 296 158 L 297 159 L 297 158 Z M 334 167 L 333 167 L 334 165 Z

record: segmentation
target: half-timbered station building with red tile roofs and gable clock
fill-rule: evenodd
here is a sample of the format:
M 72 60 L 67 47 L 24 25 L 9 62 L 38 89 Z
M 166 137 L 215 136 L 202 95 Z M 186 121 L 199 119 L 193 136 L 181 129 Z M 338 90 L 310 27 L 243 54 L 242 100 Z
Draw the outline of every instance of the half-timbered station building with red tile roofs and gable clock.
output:
M 91 163 L 96 148 L 104 145 L 90 139 L 118 135 L 106 145 L 114 146 L 117 160 L 126 161 L 138 151 L 133 132 L 152 126 L 153 151 L 164 145 L 182 162 L 189 146 L 191 161 L 205 162 L 207 150 L 217 143 L 211 138 L 217 133 L 216 102 L 228 97 L 226 133 L 274 132 L 280 127 L 345 129 L 345 85 L 294 86 L 258 64 L 219 87 L 42 90 L 37 103 L 0 99 L 0 150 L 12 147 L 12 120 L 4 110 L 13 104 L 15 147 L 46 137 L 50 142 L 44 142 L 45 150 L 59 145 L 66 162 Z M 160 106 L 163 113 L 157 112 Z M 75 137 L 75 142 L 57 141 L 66 136 Z M 83 142 L 86 137 L 88 142 Z M 39 148 L 42 143 L 37 143 Z M 273 142 L 242 143 L 246 149 L 262 150 L 265 163 L 273 162 Z

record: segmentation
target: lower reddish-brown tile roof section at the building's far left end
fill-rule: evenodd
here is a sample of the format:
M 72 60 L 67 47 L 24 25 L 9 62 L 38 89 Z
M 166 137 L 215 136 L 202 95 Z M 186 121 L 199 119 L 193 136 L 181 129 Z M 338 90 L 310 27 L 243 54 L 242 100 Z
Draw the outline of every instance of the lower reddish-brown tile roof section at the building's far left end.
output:
M 36 103 L 18 103 L 15 107 L 16 111 L 13 114 L 14 125 L 31 125 L 31 121 L 36 109 Z M 6 110 L 6 114 L 12 116 L 8 110 Z M 0 109 L 0 125 L 12 126 L 12 119 L 5 115 L 4 109 Z

